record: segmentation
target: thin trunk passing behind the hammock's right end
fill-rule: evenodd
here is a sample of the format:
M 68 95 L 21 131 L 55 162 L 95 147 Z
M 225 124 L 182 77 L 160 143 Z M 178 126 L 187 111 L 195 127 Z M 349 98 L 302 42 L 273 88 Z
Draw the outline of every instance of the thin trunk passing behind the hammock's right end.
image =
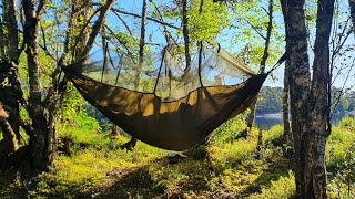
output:
M 271 40 L 271 33 L 273 30 L 273 11 L 274 11 L 274 2 L 273 0 L 268 1 L 268 23 L 267 23 L 267 30 L 266 30 L 266 40 L 265 40 L 265 46 L 264 46 L 264 54 L 261 61 L 261 66 L 260 66 L 260 73 L 265 73 L 265 67 L 266 67 L 266 61 L 268 57 L 268 46 L 270 46 L 270 40 Z M 246 119 L 246 129 L 242 133 L 242 137 L 247 137 L 251 135 L 251 130 L 254 125 L 255 121 L 255 113 L 256 113 L 256 101 L 251 104 L 250 111 L 251 113 L 248 114 L 248 117 Z

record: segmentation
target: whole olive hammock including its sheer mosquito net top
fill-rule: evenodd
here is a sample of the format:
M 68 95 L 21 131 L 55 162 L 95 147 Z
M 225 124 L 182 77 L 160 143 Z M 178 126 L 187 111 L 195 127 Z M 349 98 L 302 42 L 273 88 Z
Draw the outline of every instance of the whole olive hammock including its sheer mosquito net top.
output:
M 111 122 L 160 148 L 185 150 L 245 111 L 266 78 L 219 46 L 199 46 L 191 65 L 180 48 L 145 55 L 143 64 L 105 50 L 63 69 L 81 95 Z

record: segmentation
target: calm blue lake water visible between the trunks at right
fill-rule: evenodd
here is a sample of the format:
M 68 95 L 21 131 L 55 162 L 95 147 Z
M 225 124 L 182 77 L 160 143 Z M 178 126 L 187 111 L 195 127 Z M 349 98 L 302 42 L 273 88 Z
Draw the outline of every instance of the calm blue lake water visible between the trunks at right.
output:
M 336 114 L 332 117 L 332 124 L 338 125 L 345 114 Z M 278 116 L 256 115 L 255 125 L 257 128 L 268 130 L 272 126 L 283 124 L 282 114 Z

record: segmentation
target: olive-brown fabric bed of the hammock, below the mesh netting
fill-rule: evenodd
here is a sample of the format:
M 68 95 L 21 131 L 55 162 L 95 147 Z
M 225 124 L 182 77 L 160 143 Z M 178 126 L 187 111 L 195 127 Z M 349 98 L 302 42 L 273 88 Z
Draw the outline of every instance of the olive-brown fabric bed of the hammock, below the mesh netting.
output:
M 63 69 L 81 95 L 112 123 L 138 139 L 160 148 L 185 150 L 216 127 L 245 111 L 267 74 L 251 75 L 230 86 L 205 86 L 172 102 L 154 93 L 113 86 L 90 78 L 74 66 Z

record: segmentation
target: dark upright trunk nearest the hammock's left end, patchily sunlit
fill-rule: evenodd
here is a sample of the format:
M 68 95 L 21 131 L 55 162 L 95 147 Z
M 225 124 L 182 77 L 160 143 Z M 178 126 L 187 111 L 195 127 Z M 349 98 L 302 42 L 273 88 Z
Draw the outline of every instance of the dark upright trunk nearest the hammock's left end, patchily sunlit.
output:
M 53 111 L 43 107 L 41 101 L 40 63 L 38 50 L 38 21 L 36 2 L 23 0 L 24 11 L 23 42 L 27 44 L 27 62 L 30 83 L 29 115 L 32 119 L 33 135 L 30 137 L 31 165 L 33 168 L 43 170 L 53 160 L 55 125 Z M 50 118 L 50 119 L 49 119 Z

